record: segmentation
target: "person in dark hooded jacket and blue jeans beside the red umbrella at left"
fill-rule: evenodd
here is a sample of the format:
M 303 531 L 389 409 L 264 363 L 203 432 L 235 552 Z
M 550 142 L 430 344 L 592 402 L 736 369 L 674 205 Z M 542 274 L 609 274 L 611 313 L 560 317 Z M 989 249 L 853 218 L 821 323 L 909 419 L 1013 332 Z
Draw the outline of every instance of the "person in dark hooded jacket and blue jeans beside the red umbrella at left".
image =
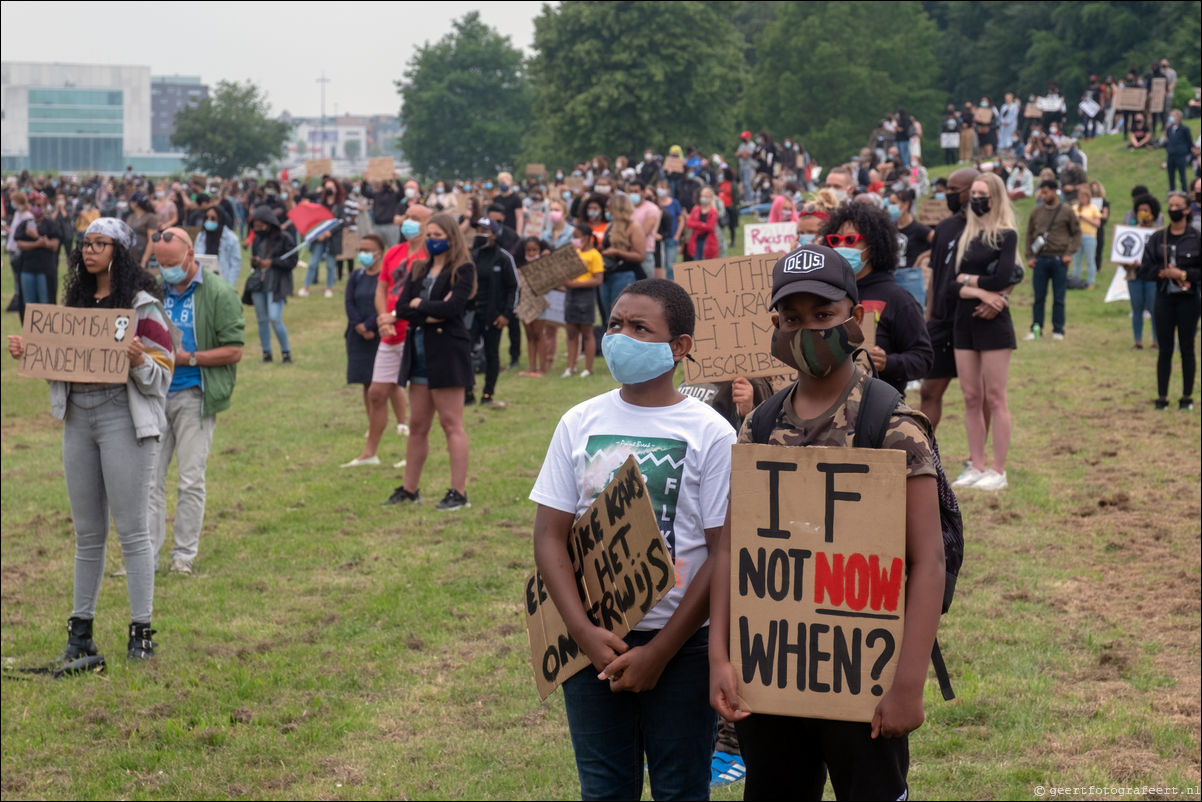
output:
M 272 332 L 280 343 L 280 361 L 292 362 L 288 329 L 284 326 L 284 305 L 292 295 L 292 271 L 297 266 L 296 240 L 291 231 L 280 228 L 279 219 L 270 207 L 261 206 L 251 218 L 255 242 L 251 246 L 250 266 L 257 272 L 246 279 L 243 303 L 250 293 L 258 322 L 258 344 L 263 349 L 263 362 L 272 361 Z

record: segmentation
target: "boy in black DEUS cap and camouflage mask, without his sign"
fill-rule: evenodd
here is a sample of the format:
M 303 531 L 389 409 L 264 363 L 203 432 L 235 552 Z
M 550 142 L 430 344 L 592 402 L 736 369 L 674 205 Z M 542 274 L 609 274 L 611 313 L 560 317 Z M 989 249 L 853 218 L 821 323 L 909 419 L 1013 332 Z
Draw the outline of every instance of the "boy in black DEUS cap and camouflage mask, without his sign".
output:
M 804 273 L 785 271 L 805 255 Z M 773 271 L 773 355 L 797 369 L 768 441 L 778 446 L 850 446 L 868 375 L 850 358 L 863 340 L 851 266 L 820 245 L 803 245 Z M 752 442 L 751 414 L 739 442 Z M 738 696 L 731 663 L 731 513 L 713 558 L 709 598 L 709 697 L 734 721 L 746 765 L 748 800 L 801 796 L 821 798 L 829 773 L 840 800 L 909 798 L 906 735 L 922 725 L 922 688 L 944 596 L 944 545 L 936 494 L 936 458 L 930 427 L 899 403 L 889 418 L 885 448 L 906 453 L 906 616 L 897 673 L 871 723 L 750 713 Z M 575 590 L 575 587 L 572 588 Z

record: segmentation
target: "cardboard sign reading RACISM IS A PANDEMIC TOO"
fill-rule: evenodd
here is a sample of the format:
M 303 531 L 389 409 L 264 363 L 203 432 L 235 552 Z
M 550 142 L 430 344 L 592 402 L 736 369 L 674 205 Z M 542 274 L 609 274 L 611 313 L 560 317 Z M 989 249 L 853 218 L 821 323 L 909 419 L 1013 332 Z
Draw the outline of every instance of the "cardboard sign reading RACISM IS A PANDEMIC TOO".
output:
M 124 385 L 130 375 L 126 350 L 133 339 L 136 320 L 132 309 L 25 304 L 25 325 L 20 332 L 25 354 L 17 375 Z

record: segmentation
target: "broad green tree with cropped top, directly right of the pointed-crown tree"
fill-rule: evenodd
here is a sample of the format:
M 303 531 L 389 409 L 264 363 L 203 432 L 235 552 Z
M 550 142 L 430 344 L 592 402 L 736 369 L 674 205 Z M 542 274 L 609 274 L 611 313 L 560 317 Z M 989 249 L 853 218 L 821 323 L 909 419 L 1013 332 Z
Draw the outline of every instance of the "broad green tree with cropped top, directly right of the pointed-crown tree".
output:
M 535 18 L 531 161 L 730 149 L 744 65 L 731 2 L 545 5 Z

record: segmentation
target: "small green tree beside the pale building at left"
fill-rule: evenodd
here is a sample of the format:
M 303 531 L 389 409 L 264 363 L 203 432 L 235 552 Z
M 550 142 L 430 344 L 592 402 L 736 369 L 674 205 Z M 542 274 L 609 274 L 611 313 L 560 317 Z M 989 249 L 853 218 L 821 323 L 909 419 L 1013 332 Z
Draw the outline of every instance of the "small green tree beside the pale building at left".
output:
M 188 170 L 239 176 L 284 153 L 292 126 L 268 112 L 254 83 L 221 81 L 212 96 L 175 114 L 171 143 L 186 154 Z

